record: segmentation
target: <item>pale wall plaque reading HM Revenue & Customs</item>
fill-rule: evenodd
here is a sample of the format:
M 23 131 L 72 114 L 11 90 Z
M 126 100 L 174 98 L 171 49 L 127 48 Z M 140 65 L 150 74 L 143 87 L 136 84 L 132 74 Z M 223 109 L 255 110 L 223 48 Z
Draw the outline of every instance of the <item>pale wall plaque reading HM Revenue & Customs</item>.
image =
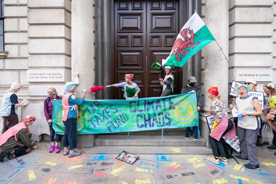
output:
M 273 69 L 235 69 L 236 81 L 254 78 L 258 82 L 273 81 Z

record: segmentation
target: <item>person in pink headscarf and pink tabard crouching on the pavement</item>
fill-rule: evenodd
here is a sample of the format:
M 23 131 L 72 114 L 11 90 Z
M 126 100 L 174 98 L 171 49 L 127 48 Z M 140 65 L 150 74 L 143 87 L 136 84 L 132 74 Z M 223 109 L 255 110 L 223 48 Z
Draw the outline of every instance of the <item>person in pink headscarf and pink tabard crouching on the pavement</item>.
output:
M 30 153 L 31 148 L 38 148 L 28 137 L 30 135 L 28 126 L 31 126 L 35 119 L 34 115 L 28 115 L 24 118 L 24 122 L 14 125 L 0 136 L 0 162 L 4 161 L 5 156 L 11 160 Z

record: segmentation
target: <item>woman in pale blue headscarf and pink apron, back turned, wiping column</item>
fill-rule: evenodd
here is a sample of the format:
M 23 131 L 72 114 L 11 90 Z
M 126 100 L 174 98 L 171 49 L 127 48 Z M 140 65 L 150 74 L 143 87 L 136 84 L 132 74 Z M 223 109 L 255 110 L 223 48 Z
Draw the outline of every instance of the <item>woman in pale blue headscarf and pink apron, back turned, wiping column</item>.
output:
M 74 93 L 76 92 L 76 83 L 67 82 L 65 84 L 65 90 L 67 91 L 62 95 L 63 105 L 63 124 L 64 124 L 64 136 L 62 146 L 64 147 L 63 155 L 68 155 L 69 158 L 79 156 L 81 152 L 76 152 L 78 131 L 77 131 L 77 119 L 78 119 L 78 105 L 81 105 L 84 101 L 85 93 L 78 99 Z M 70 150 L 68 148 L 70 147 Z

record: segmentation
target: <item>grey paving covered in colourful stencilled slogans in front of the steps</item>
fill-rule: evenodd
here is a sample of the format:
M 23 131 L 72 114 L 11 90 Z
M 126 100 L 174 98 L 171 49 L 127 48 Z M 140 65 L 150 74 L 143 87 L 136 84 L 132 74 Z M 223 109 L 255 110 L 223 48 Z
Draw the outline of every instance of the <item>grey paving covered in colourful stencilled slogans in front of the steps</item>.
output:
M 50 146 L 48 141 L 43 141 L 39 149 L 29 154 L 12 160 L 5 158 L 0 163 L 0 184 L 275 183 L 275 150 L 266 146 L 257 147 L 260 170 L 245 169 L 243 165 L 248 162 L 243 160 L 228 159 L 227 165 L 214 164 L 206 159 L 206 152 L 183 154 L 181 147 L 167 148 L 173 149 L 170 154 L 145 147 L 155 153 L 137 154 L 139 159 L 131 165 L 116 159 L 122 150 L 129 151 L 127 147 L 118 150 L 118 154 L 101 150 L 98 154 L 82 152 L 68 158 L 62 152 L 49 153 Z M 142 146 L 136 149 L 143 151 Z

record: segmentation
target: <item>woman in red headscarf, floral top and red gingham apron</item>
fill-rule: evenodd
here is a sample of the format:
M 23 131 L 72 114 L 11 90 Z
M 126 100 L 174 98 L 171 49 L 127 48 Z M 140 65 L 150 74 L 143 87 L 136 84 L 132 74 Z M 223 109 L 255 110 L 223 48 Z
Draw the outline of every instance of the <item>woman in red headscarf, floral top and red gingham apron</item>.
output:
M 234 122 L 231 121 L 227 116 L 225 102 L 223 99 L 221 99 L 221 94 L 218 92 L 218 88 L 210 88 L 207 92 L 207 95 L 208 98 L 212 99 L 210 115 L 215 117 L 215 122 L 212 128 L 212 132 L 209 135 L 209 142 L 213 155 L 207 156 L 206 158 L 215 164 L 219 164 L 220 161 L 224 164 L 228 164 L 223 147 L 222 137 L 224 136 L 235 139 L 235 125 Z

